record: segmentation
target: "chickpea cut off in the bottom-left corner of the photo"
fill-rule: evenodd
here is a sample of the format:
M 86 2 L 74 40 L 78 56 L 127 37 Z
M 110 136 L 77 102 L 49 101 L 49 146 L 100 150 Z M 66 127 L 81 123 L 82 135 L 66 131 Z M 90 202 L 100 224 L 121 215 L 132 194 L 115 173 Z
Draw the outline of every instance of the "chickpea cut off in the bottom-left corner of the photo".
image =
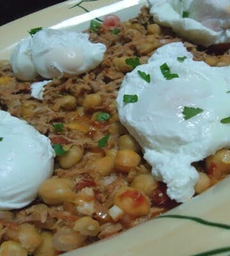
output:
M 20 243 L 6 241 L 1 244 L 0 256 L 27 256 L 27 252 Z

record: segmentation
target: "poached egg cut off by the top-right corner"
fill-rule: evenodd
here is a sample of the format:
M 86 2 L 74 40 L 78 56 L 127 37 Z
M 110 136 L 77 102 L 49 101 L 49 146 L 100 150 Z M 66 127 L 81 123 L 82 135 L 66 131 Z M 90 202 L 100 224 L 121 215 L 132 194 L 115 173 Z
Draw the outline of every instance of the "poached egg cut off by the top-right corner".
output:
M 150 0 L 155 22 L 206 47 L 230 42 L 229 0 Z

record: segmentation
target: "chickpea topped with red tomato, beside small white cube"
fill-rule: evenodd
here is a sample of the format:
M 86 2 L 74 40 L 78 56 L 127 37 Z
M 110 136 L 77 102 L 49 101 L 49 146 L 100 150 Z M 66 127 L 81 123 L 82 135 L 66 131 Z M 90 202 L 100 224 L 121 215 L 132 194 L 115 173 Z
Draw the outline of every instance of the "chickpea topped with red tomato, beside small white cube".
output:
M 120 188 L 114 195 L 113 203 L 127 214 L 135 217 L 150 212 L 150 201 L 141 191 L 135 188 Z

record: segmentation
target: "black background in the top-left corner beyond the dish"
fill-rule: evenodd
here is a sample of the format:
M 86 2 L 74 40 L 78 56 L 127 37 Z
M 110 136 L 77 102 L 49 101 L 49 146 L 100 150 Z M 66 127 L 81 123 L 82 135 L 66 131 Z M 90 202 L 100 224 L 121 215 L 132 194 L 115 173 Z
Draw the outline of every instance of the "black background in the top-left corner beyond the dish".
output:
M 65 0 L 0 0 L 0 26 Z

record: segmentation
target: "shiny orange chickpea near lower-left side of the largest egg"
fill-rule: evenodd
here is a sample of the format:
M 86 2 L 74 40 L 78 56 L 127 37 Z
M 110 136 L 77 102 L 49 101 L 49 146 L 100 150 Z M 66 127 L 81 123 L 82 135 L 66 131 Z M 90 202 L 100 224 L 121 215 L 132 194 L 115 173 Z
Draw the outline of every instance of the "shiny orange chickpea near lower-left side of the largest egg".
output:
M 115 159 L 115 168 L 128 173 L 141 162 L 141 157 L 133 150 L 118 150 Z

